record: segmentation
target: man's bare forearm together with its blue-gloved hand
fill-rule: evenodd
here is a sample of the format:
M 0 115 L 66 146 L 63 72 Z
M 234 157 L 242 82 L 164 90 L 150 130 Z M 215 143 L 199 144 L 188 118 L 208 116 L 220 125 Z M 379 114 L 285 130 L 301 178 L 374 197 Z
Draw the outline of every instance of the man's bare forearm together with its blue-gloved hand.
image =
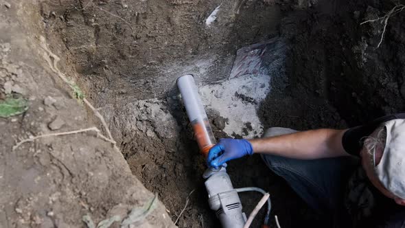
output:
M 253 155 L 253 153 L 279 155 L 294 159 L 321 159 L 349 155 L 342 145 L 346 130 L 318 129 L 260 139 L 220 139 L 209 150 L 209 166 Z

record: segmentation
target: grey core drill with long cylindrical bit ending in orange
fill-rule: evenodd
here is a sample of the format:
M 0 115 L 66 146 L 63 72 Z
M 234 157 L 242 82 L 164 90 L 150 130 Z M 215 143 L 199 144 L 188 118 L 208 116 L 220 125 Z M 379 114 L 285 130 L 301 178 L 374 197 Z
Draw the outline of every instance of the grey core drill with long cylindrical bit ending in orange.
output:
M 191 74 L 177 79 L 177 86 L 181 93 L 189 121 L 192 123 L 194 137 L 200 152 L 207 157 L 209 149 L 216 144 L 211 126 L 203 103 L 198 95 L 198 88 Z M 209 207 L 216 213 L 223 228 L 242 228 L 246 223 L 246 215 L 242 212 L 242 203 L 238 192 L 257 191 L 265 194 L 258 187 L 243 187 L 234 189 L 225 166 L 220 168 L 207 168 L 203 174 L 206 179 L 205 187 L 208 193 Z M 270 214 L 270 198 L 267 200 L 268 208 L 263 227 L 268 227 Z

